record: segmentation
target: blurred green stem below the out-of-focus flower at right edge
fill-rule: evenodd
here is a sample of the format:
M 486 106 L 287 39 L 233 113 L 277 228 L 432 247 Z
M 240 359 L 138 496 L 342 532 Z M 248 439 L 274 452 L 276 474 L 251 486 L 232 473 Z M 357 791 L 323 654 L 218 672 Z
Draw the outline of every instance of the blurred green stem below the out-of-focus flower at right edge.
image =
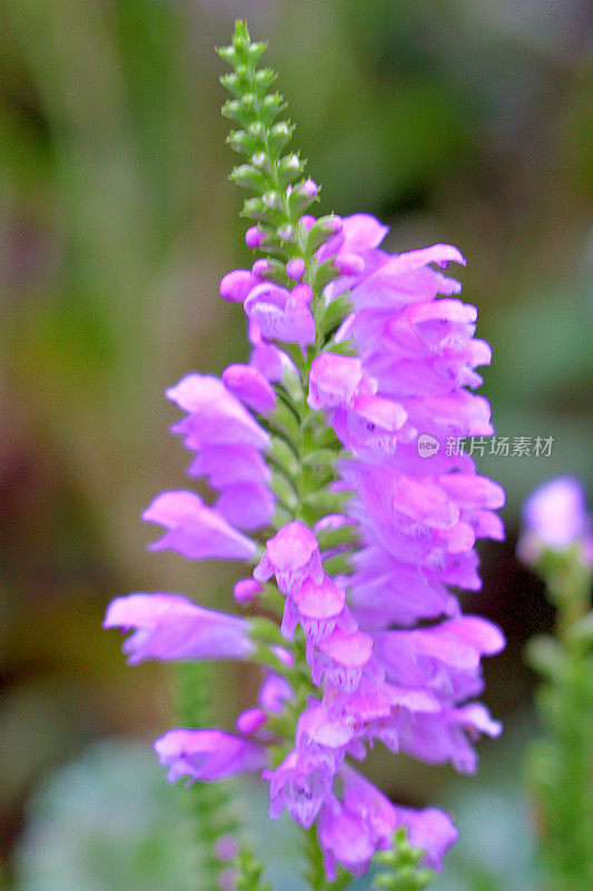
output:
M 593 888 L 593 640 L 580 634 L 592 572 L 580 549 L 548 552 L 538 567 L 557 607 L 556 635 L 537 638 L 527 656 L 546 676 L 540 707 L 547 738 L 530 753 L 541 853 L 550 891 Z M 591 618 L 590 618 L 591 617 Z

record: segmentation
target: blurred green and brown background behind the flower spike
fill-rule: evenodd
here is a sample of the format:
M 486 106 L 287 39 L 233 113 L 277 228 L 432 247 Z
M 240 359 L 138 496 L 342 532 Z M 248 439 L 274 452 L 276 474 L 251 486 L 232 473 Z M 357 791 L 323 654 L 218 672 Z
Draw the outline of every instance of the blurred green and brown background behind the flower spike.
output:
M 176 412 L 165 388 L 247 356 L 243 313 L 218 297 L 223 274 L 250 263 L 243 196 L 227 180 L 235 157 L 214 52 L 239 14 L 269 39 L 267 62 L 298 125 L 295 146 L 323 184 L 320 209 L 376 214 L 391 225 L 394 251 L 458 245 L 470 261 L 464 296 L 494 350 L 483 392 L 497 432 L 554 438 L 548 458 L 480 460 L 508 493 L 508 539 L 483 549 L 484 591 L 471 604 L 508 635 L 506 654 L 487 666 L 486 697 L 506 722 L 506 742 L 483 745 L 483 780 L 464 780 L 461 792 L 447 770 L 380 756 L 369 764 L 401 800 L 448 794 L 459 814 L 490 783 L 494 797 L 476 805 L 462 856 L 471 861 L 472 844 L 487 839 L 498 860 L 524 856 L 520 831 L 501 841 L 493 826 L 497 814 L 503 823 L 516 814 L 523 744 L 536 732 L 521 652 L 553 615 L 514 558 L 520 506 L 560 472 L 579 474 L 590 491 L 593 482 L 591 6 L 2 0 L 6 888 L 147 891 L 147 875 L 130 878 L 146 858 L 128 858 L 123 880 L 103 834 L 115 813 L 121 836 L 134 834 L 148 799 L 154 825 L 142 823 L 140 839 L 178 807 L 159 791 L 148 742 L 175 721 L 174 675 L 126 668 L 119 635 L 100 621 L 108 600 L 130 590 L 230 604 L 233 569 L 147 555 L 154 532 L 140 512 L 184 484 L 187 457 L 167 432 Z M 249 679 L 233 668 L 217 678 L 224 723 L 248 697 Z M 110 737 L 140 742 L 88 748 Z M 93 826 L 98 846 L 89 873 L 72 878 L 81 825 Z M 165 860 L 176 860 L 171 850 Z M 476 887 L 491 887 L 475 879 L 482 866 L 470 868 Z M 155 888 L 186 887 L 168 875 Z

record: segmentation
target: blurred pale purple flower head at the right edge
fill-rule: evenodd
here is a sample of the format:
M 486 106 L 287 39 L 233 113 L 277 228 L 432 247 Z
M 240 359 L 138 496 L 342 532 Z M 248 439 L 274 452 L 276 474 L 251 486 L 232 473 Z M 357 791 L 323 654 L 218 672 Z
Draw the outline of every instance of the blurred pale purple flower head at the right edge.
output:
M 591 544 L 591 516 L 585 492 L 575 477 L 557 477 L 540 486 L 523 508 L 525 531 L 518 554 L 525 562 L 536 562 L 547 548 L 561 551 L 571 545 Z

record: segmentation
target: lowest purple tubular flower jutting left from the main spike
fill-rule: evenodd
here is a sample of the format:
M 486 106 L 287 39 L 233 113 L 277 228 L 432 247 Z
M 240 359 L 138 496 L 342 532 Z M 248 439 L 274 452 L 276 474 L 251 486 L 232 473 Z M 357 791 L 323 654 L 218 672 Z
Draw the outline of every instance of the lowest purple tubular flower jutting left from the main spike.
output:
M 172 730 L 155 742 L 159 762 L 167 767 L 167 779 L 175 783 L 187 776 L 209 783 L 237 773 L 260 771 L 267 761 L 266 750 L 218 730 Z

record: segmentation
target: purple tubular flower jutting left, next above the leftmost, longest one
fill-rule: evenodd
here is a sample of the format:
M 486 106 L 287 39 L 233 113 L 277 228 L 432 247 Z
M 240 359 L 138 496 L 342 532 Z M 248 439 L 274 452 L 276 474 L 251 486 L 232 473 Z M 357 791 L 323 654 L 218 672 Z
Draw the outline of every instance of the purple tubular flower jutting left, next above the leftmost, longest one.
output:
M 190 560 L 249 560 L 257 552 L 250 539 L 194 492 L 162 492 L 144 511 L 142 519 L 168 530 L 150 545 L 150 550 L 175 550 Z

